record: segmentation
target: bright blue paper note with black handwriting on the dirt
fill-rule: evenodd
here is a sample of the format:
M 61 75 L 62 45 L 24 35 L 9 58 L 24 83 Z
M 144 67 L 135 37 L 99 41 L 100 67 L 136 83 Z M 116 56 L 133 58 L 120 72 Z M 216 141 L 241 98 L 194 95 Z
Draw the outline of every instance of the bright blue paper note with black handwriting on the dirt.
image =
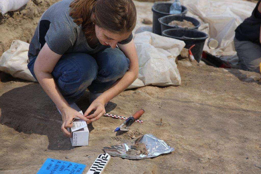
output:
M 62 161 L 58 159 L 47 158 L 37 174 L 60 174 L 60 173 L 77 173 L 81 174 L 86 165 Z

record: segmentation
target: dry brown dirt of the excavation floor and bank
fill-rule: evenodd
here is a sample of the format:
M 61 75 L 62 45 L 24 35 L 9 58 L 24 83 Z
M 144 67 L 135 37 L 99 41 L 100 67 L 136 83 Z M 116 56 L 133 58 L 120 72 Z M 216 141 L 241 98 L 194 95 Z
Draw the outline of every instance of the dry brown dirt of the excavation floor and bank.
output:
M 29 42 L 34 22 L 54 2 L 28 3 L 2 19 L 0 55 L 13 39 Z M 140 2 L 135 4 L 138 14 L 144 10 Z M 0 173 L 36 173 L 46 158 L 85 164 L 87 172 L 103 147 L 142 134 L 153 134 L 175 151 L 143 160 L 112 157 L 105 173 L 260 173 L 260 75 L 189 66 L 185 61 L 179 61 L 178 68 L 180 86 L 127 90 L 106 107 L 107 113 L 122 116 L 143 108 L 144 123 L 134 123 L 128 133 L 115 134 L 122 120 L 102 117 L 88 125 L 90 143 L 82 147 L 72 147 L 63 136 L 61 116 L 38 83 L 0 82 Z M 86 110 L 88 91 L 77 104 Z M 156 125 L 160 118 L 162 126 Z

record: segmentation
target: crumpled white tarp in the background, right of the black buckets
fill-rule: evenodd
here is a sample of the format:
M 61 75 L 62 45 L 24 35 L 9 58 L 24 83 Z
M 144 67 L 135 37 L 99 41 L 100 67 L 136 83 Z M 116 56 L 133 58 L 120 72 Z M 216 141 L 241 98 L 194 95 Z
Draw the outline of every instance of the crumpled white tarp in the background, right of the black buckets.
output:
M 186 16 L 200 19 L 201 25 L 208 23 L 209 36 L 218 40 L 219 47 L 211 50 L 204 46 L 207 51 L 215 56 L 233 56 L 236 54 L 234 48 L 235 29 L 251 16 L 256 3 L 242 0 L 181 0 L 188 8 Z M 201 26 L 199 29 L 204 28 Z

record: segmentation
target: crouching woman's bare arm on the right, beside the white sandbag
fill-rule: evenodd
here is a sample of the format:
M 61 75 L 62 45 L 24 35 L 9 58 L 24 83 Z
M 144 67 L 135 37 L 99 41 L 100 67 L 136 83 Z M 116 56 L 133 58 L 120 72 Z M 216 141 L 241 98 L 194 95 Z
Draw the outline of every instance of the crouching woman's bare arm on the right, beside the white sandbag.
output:
M 110 101 L 118 94 L 120 94 L 122 91 L 124 91 L 138 77 L 139 63 L 134 41 L 132 40 L 128 44 L 124 45 L 118 44 L 118 47 L 130 60 L 129 70 L 124 74 L 124 76 L 121 79 L 118 79 L 107 91 L 102 93 L 102 95 L 100 95 L 96 100 L 94 100 L 92 104 L 88 107 L 88 109 L 84 113 L 84 116 L 90 119 L 89 121 L 87 121 L 87 123 L 91 123 L 102 117 L 105 114 L 104 104 Z M 92 110 L 96 111 L 88 116 L 88 114 Z

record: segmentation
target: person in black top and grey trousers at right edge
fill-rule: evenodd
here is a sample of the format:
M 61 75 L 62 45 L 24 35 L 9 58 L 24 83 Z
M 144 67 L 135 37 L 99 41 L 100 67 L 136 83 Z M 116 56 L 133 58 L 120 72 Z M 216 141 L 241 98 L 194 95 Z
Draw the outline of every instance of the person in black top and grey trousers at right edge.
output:
M 261 4 L 258 1 L 252 15 L 235 30 L 234 45 L 240 69 L 260 73 L 261 62 Z

